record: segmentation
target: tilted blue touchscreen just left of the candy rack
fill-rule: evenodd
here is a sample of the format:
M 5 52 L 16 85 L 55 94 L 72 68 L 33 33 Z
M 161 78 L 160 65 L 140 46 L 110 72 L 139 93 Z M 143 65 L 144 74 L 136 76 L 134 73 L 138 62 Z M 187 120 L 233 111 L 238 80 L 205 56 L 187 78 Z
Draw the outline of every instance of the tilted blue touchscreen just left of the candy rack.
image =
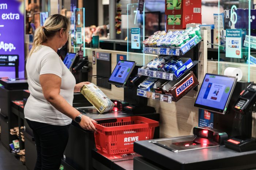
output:
M 119 60 L 112 75 L 109 78 L 109 82 L 113 84 L 124 84 L 125 80 L 127 80 L 130 75 L 135 62 Z M 117 83 L 114 83 L 117 82 Z

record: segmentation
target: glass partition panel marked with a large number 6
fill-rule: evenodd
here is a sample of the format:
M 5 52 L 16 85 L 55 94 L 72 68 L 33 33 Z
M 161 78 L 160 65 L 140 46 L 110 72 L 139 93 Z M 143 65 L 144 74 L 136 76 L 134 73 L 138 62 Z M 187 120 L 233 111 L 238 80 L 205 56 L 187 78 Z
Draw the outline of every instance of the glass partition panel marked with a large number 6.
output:
M 214 14 L 214 45 L 218 47 L 218 74 L 237 76 L 238 81 L 246 82 L 251 81 L 250 66 L 253 63 L 253 54 L 256 57 L 256 51 L 251 52 L 253 44 L 252 38 L 249 38 L 255 15 L 251 16 L 249 9 L 251 0 L 240 0 L 237 4 L 218 0 L 218 13 Z

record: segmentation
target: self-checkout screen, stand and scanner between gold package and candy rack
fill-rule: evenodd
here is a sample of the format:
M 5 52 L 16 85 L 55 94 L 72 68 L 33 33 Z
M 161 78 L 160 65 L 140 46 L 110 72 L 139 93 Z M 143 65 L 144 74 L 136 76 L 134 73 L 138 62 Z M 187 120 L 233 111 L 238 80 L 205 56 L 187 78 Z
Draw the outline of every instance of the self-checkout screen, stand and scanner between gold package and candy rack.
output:
M 119 60 L 114 68 L 108 83 L 115 85 L 118 88 L 124 88 L 124 101 L 111 99 L 115 104 L 110 112 L 124 111 L 128 114 L 147 114 L 154 113 L 155 108 L 147 106 L 147 99 L 137 96 L 137 87 L 146 76 L 137 75 L 138 68 L 134 61 Z M 94 107 L 79 107 L 79 111 L 86 114 L 97 114 Z M 106 112 L 105 114 L 107 114 Z

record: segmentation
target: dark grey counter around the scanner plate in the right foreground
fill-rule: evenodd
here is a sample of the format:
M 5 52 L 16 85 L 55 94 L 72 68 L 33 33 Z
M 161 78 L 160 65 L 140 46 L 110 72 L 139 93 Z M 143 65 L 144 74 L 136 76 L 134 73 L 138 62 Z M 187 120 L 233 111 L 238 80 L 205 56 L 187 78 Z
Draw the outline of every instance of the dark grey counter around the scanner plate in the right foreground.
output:
M 134 151 L 166 168 L 170 165 L 173 169 L 256 167 L 256 151 L 239 153 L 220 146 L 174 153 L 149 141 L 134 142 Z

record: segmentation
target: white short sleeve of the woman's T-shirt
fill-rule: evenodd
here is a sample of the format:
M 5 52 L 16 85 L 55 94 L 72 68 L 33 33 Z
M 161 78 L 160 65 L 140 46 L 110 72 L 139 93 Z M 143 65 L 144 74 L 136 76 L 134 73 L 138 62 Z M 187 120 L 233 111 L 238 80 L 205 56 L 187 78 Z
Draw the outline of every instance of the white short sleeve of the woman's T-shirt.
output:
M 46 54 L 41 61 L 41 70 L 39 75 L 42 74 L 55 74 L 61 78 L 63 65 L 61 60 L 56 53 L 50 52 Z

